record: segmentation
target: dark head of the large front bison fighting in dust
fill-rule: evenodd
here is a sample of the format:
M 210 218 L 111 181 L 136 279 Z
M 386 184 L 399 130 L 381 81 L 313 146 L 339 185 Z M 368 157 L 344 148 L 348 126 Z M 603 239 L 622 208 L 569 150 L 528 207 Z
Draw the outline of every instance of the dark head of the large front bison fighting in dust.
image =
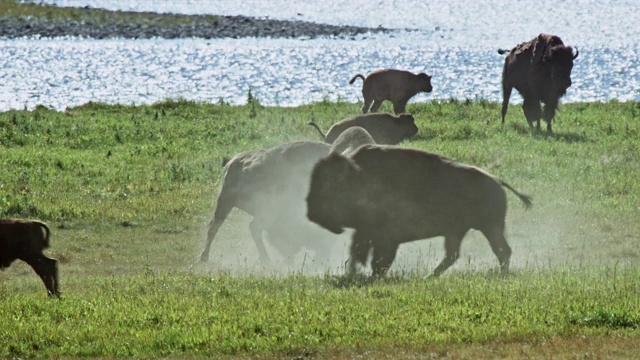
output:
M 334 234 L 341 234 L 354 204 L 351 184 L 357 179 L 358 172 L 351 160 L 337 153 L 320 159 L 311 173 L 307 195 L 309 220 Z

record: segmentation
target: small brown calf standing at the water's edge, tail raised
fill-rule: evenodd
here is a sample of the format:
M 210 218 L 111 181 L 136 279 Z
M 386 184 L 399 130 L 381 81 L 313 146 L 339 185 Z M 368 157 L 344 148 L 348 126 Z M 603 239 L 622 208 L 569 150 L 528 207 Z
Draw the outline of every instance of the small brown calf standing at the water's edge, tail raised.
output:
M 425 73 L 414 74 L 394 69 L 378 70 L 366 78 L 362 74 L 357 74 L 349 80 L 349 84 L 353 84 L 357 78 L 364 80 L 362 84 L 363 114 L 369 112 L 369 108 L 371 112 L 378 111 L 385 100 L 393 103 L 393 111 L 396 114 L 403 113 L 409 99 L 419 92 L 433 90 L 431 76 Z M 371 106 L 372 103 L 373 106 Z

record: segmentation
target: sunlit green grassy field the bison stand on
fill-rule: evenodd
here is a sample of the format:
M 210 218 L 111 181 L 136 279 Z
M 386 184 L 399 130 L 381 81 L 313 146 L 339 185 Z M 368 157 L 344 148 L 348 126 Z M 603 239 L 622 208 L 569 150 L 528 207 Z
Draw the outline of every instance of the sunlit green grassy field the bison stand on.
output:
M 425 279 L 442 239 L 403 245 L 390 276 L 345 278 L 313 254 L 262 265 L 240 211 L 196 261 L 222 159 L 318 140 L 360 104 L 165 101 L 0 113 L 0 216 L 52 227 L 63 297 L 22 263 L 0 273 L 0 358 L 633 358 L 640 351 L 640 103 L 566 104 L 555 132 L 519 106 L 412 103 L 402 146 L 480 166 L 509 195 L 513 271 L 471 232 Z M 390 110 L 389 107 L 383 110 Z

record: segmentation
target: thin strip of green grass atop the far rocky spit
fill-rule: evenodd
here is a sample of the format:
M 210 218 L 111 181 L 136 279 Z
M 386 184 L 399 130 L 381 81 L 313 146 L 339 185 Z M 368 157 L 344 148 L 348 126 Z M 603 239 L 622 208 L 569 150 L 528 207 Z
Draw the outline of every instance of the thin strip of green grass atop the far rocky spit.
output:
M 17 18 L 38 17 L 49 21 L 75 20 L 97 24 L 126 25 L 198 25 L 213 24 L 215 15 L 157 14 L 150 12 L 110 11 L 92 8 L 58 7 L 39 3 L 20 3 L 17 0 L 0 0 L 0 14 Z

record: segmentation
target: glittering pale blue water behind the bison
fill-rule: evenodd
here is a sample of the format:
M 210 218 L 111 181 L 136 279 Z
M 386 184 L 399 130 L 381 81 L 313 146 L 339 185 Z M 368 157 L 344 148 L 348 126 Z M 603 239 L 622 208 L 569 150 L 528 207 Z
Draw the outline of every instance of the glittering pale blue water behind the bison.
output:
M 414 102 L 500 101 L 504 58 L 496 49 L 540 32 L 558 34 L 580 50 L 564 102 L 640 101 L 640 7 L 635 1 L 46 2 L 413 30 L 314 40 L 0 40 L 0 111 L 36 105 L 62 110 L 87 101 L 149 104 L 167 98 L 244 104 L 249 89 L 264 105 L 356 102 L 361 82 L 348 85 L 348 80 L 382 68 L 433 76 L 433 92 Z M 512 101 L 521 99 L 515 95 Z

